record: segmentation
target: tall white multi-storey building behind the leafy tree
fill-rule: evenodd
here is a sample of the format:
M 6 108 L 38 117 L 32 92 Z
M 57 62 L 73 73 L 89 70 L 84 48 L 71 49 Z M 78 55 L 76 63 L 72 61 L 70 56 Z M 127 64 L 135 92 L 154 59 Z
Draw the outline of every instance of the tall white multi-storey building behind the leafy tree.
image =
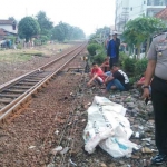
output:
M 140 16 L 153 17 L 165 8 L 166 0 L 116 0 L 116 29 L 122 32 L 127 21 Z

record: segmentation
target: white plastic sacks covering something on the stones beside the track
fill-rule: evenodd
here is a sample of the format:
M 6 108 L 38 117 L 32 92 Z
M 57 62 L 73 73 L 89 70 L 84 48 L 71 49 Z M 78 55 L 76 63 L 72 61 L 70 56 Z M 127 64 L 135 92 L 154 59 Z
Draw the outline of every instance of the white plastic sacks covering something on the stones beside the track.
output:
M 84 130 L 85 150 L 92 154 L 99 145 L 115 158 L 130 157 L 132 148 L 138 149 L 138 146 L 129 140 L 132 130 L 125 114 L 126 108 L 121 105 L 95 96 Z

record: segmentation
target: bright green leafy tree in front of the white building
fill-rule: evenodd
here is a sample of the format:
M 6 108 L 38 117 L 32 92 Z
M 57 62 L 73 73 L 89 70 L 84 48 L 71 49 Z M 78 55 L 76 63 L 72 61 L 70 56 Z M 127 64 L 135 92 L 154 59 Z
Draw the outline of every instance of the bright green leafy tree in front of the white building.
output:
M 122 33 L 125 41 L 129 45 L 137 48 L 138 57 L 140 55 L 140 46 L 143 42 L 147 41 L 147 49 L 150 43 L 150 38 L 161 31 L 165 28 L 165 23 L 153 17 L 139 17 L 134 20 L 130 20 L 125 26 L 125 31 Z

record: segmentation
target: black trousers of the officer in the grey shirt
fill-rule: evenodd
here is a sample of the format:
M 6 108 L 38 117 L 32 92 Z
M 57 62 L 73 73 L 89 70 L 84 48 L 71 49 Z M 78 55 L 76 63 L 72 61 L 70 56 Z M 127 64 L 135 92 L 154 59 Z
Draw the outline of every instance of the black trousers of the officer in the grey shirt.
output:
M 167 155 L 167 81 L 155 77 L 151 81 L 155 112 L 155 140 L 159 154 Z

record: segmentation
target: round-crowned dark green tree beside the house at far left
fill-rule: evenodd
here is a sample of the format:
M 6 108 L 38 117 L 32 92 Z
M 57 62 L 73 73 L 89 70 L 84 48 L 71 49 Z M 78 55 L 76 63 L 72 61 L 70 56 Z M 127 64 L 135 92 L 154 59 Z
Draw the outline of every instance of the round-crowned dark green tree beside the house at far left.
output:
M 37 20 L 31 17 L 24 17 L 21 19 L 18 26 L 18 33 L 20 38 L 26 38 L 26 42 L 28 42 L 32 36 L 36 36 L 40 32 L 40 27 Z

